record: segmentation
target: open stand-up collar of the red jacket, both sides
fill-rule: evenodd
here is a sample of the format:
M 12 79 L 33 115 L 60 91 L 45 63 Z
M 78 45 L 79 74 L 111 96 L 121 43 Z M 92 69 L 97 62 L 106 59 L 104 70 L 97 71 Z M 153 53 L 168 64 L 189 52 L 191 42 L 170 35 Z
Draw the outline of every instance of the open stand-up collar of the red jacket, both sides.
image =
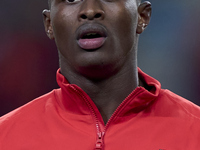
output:
M 141 86 L 137 87 L 127 96 L 121 103 L 123 106 L 119 106 L 119 113 L 115 114 L 120 118 L 122 116 L 130 116 L 131 114 L 141 112 L 159 96 L 161 89 L 160 82 L 142 72 L 140 68 L 138 68 L 138 75 L 139 79 L 146 85 L 145 87 L 147 87 L 147 89 Z M 91 115 L 91 108 L 88 107 L 88 105 L 90 105 L 94 112 L 98 112 L 97 107 L 90 97 L 80 87 L 69 84 L 65 77 L 60 73 L 60 69 L 57 71 L 57 83 L 61 88 L 59 103 L 65 111 L 71 111 L 78 115 Z

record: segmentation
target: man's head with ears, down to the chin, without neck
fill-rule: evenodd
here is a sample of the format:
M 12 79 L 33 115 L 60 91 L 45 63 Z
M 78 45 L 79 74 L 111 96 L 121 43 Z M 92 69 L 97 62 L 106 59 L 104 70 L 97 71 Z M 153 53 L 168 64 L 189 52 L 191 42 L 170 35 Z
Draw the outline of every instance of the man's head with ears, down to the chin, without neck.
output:
M 47 36 L 58 48 L 62 73 L 106 78 L 137 66 L 138 37 L 149 24 L 151 4 L 138 0 L 49 0 Z

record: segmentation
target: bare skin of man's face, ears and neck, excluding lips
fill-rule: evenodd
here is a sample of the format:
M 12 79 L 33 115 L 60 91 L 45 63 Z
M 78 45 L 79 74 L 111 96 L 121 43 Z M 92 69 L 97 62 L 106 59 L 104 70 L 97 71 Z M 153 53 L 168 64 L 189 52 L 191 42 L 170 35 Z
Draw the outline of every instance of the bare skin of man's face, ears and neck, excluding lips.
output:
M 138 37 L 148 25 L 151 4 L 136 0 L 52 0 L 44 10 L 47 36 L 59 52 L 61 73 L 81 87 L 106 123 L 119 104 L 139 86 Z M 87 51 L 77 44 L 82 25 L 98 25 L 107 33 L 102 47 Z

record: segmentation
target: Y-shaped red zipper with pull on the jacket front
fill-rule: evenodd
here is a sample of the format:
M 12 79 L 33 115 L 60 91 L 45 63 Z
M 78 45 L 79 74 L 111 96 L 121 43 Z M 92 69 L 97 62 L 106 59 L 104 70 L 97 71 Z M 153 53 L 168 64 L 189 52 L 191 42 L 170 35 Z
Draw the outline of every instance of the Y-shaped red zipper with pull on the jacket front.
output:
M 92 111 L 93 117 L 95 118 L 96 121 L 96 129 L 97 129 L 97 140 L 96 140 L 96 144 L 95 144 L 95 150 L 103 150 L 103 138 L 105 136 L 105 132 L 108 128 L 108 126 L 110 125 L 110 122 L 114 119 L 114 117 L 120 113 L 120 110 L 122 110 L 122 108 L 124 107 L 124 105 L 128 104 L 129 101 L 131 100 L 130 97 L 132 97 L 133 95 L 136 96 L 140 93 L 139 91 L 141 90 L 141 87 L 136 88 L 135 90 L 133 90 L 131 92 L 130 95 L 128 95 L 128 97 L 117 107 L 117 109 L 115 110 L 115 112 L 112 114 L 112 116 L 110 117 L 110 119 L 108 120 L 104 130 L 101 130 L 101 127 L 99 125 L 99 119 L 97 118 L 97 115 L 94 111 L 94 108 L 92 107 L 91 103 L 89 102 L 89 100 L 87 99 L 87 97 L 84 95 L 84 93 L 82 93 L 81 91 L 77 90 L 76 87 L 74 86 L 70 86 L 74 91 L 76 91 L 87 103 L 88 107 L 90 108 L 90 110 Z M 142 91 L 141 91 L 142 92 Z

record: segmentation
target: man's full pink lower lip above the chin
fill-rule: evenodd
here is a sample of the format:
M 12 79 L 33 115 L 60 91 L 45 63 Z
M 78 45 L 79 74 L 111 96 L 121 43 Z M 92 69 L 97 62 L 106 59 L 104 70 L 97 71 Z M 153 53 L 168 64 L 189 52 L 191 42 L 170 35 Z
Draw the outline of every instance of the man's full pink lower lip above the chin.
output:
M 81 48 L 87 50 L 98 49 L 104 44 L 105 39 L 106 39 L 105 37 L 94 38 L 94 39 L 79 39 L 78 45 Z

